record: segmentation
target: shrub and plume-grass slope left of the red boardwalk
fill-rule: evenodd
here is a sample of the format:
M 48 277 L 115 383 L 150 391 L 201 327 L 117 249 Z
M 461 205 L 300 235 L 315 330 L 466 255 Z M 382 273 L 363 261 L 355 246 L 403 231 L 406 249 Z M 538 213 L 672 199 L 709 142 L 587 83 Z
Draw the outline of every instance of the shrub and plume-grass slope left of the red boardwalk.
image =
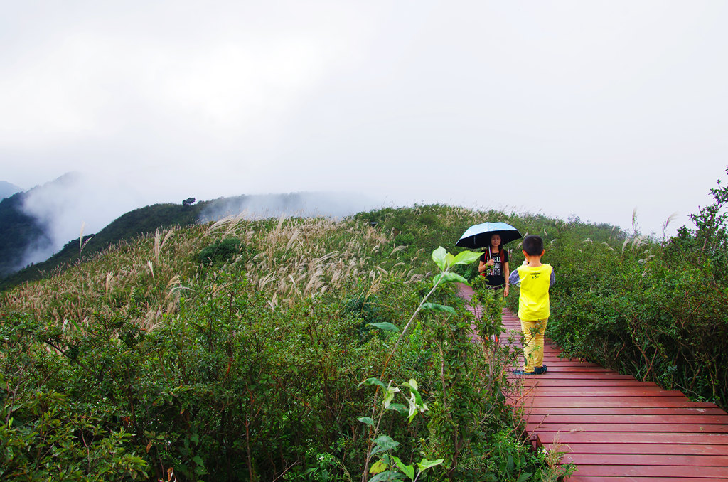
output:
M 548 480 L 502 401 L 505 365 L 483 370 L 451 283 L 432 291 L 432 250 L 395 237 L 365 219 L 234 218 L 3 293 L 1 476 L 368 480 L 376 399 L 360 384 L 377 377 L 415 379 L 429 408 L 378 424 L 403 475 Z M 413 317 L 427 293 L 448 309 Z

